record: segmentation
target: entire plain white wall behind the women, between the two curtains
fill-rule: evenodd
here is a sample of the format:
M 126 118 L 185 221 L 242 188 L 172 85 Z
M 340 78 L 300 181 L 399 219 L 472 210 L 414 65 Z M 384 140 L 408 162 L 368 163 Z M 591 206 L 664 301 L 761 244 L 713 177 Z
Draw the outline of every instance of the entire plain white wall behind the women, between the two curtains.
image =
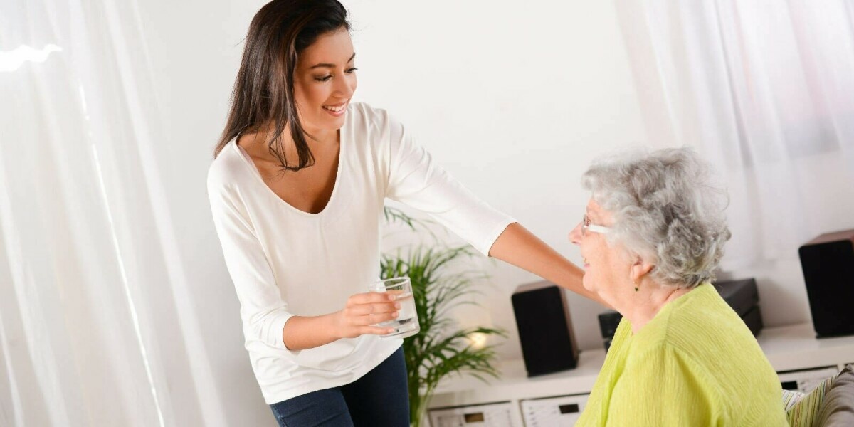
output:
M 237 298 L 208 210 L 205 177 L 222 130 L 241 40 L 261 1 L 141 2 L 166 134 L 159 159 L 186 273 L 229 425 L 271 419 L 243 350 Z M 578 178 L 597 155 L 646 144 L 611 2 L 552 0 L 345 3 L 354 22 L 357 101 L 388 108 L 478 196 L 515 216 L 575 262 L 567 234 L 588 195 Z M 845 217 L 848 218 L 848 217 Z M 841 219 L 845 221 L 845 219 Z M 809 319 L 796 265 L 765 268 L 794 309 L 766 323 Z M 496 264 L 488 310 L 465 321 L 511 331 L 500 354 L 521 357 L 510 295 L 531 274 Z M 763 288 L 774 291 L 775 288 Z M 582 348 L 600 348 L 597 304 L 570 295 Z M 769 314 L 770 313 L 770 314 Z M 780 314 L 787 313 L 787 314 Z M 770 320 L 770 321 L 769 321 Z

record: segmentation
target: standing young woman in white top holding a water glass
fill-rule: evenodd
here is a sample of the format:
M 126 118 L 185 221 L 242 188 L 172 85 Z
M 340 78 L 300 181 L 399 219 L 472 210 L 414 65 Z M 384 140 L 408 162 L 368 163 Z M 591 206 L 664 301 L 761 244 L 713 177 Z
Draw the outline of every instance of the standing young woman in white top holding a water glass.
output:
M 382 109 L 351 103 L 356 54 L 336 0 L 254 16 L 208 173 L 246 348 L 282 425 L 408 425 L 399 308 L 379 276 L 386 197 L 483 254 L 582 295 L 581 271 L 453 181 Z

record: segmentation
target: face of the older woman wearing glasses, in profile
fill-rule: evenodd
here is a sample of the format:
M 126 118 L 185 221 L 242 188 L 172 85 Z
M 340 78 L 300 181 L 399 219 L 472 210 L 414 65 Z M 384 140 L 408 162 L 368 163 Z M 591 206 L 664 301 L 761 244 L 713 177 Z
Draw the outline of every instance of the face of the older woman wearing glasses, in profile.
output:
M 588 202 L 586 215 L 588 225 L 600 225 L 610 227 L 613 218 L 610 212 L 599 206 L 593 198 Z M 605 291 L 622 289 L 621 286 L 630 285 L 629 265 L 623 258 L 623 251 L 611 246 L 605 239 L 605 235 L 593 230 L 583 230 L 582 223 L 576 225 L 570 232 L 570 240 L 576 243 L 582 251 L 584 260 L 584 288 L 601 294 Z

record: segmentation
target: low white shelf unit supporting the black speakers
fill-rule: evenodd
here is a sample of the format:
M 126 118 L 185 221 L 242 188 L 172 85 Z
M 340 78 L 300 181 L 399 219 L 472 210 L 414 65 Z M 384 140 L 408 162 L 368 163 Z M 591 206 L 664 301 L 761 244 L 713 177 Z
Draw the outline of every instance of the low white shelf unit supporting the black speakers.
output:
M 817 376 L 828 377 L 832 370 L 826 368 L 839 371 L 846 364 L 854 363 L 854 336 L 817 339 L 811 324 L 765 328 L 757 342 L 771 366 L 781 374 L 781 381 L 797 380 L 798 385 L 804 388 L 814 384 Z M 442 383 L 430 401 L 428 418 L 433 412 L 456 412 L 462 420 L 465 414 L 471 415 L 471 410 L 475 410 L 473 406 L 478 406 L 477 411 L 489 410 L 488 404 L 494 403 L 500 406 L 501 411 L 510 412 L 513 427 L 533 427 L 535 424 L 524 422 L 523 401 L 567 396 L 570 400 L 575 396 L 576 401 L 586 401 L 585 395 L 593 389 L 604 362 L 604 348 L 584 350 L 576 369 L 529 378 L 523 360 L 506 360 L 498 366 L 501 377 L 489 383 L 472 377 L 455 377 Z M 531 418 L 530 413 L 528 418 Z M 488 423 L 465 422 L 455 425 L 490 426 Z

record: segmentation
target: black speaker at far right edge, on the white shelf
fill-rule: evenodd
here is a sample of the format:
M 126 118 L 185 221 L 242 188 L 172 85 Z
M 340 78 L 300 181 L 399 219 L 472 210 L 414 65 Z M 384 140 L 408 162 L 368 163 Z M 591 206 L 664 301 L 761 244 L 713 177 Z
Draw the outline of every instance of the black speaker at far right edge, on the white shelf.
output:
M 816 336 L 854 334 L 854 230 L 822 234 L 798 253 Z

